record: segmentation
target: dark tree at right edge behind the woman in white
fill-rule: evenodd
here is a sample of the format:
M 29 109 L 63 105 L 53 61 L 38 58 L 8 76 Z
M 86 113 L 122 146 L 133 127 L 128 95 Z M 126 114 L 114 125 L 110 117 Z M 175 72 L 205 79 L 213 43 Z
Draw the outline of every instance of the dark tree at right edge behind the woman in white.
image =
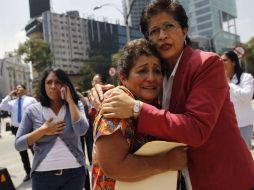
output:
M 246 57 L 244 61 L 247 62 L 247 72 L 254 76 L 254 37 L 246 43 Z

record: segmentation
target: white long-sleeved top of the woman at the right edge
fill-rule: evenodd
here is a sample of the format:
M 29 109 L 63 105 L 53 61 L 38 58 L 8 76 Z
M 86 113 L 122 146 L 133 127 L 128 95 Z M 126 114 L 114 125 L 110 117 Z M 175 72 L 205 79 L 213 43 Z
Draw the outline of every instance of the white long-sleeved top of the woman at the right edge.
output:
M 251 107 L 254 80 L 251 74 L 242 73 L 240 83 L 236 83 L 237 77 L 234 75 L 229 83 L 230 99 L 234 104 L 238 126 L 245 127 L 254 123 L 254 112 Z

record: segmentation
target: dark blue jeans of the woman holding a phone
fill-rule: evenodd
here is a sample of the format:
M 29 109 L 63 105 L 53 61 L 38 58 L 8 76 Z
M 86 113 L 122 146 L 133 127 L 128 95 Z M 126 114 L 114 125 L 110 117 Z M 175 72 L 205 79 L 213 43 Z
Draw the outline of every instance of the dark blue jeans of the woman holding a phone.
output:
M 33 190 L 82 190 L 84 184 L 84 167 L 32 173 Z

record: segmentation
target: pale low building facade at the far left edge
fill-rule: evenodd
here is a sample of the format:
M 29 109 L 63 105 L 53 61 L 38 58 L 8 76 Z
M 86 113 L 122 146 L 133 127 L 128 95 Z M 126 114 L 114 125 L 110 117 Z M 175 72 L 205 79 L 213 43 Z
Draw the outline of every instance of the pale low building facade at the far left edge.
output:
M 28 94 L 32 92 L 30 66 L 16 57 L 0 59 L 0 98 L 9 94 L 18 84 L 24 84 Z

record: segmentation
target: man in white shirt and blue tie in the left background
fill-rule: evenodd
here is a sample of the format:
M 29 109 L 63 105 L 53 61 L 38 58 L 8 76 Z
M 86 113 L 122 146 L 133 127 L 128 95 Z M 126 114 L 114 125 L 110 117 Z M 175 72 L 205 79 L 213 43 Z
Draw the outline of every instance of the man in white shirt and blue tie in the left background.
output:
M 0 110 L 8 111 L 11 113 L 11 131 L 13 135 L 16 135 L 19 124 L 22 120 L 22 115 L 25 112 L 27 106 L 36 103 L 37 101 L 33 97 L 26 96 L 26 87 L 24 85 L 17 85 L 16 90 L 13 90 L 7 95 L 0 103 Z M 23 167 L 26 172 L 26 176 L 23 181 L 30 179 L 30 161 L 27 150 L 19 152 Z

